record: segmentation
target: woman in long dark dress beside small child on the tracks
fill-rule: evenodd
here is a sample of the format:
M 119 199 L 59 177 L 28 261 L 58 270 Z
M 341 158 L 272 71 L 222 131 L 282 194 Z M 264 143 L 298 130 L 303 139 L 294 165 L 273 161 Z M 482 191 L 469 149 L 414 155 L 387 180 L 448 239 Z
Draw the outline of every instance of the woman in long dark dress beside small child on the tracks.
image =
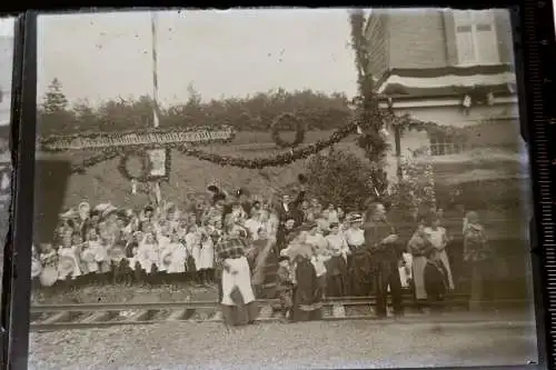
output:
M 294 321 L 318 320 L 322 317 L 322 291 L 310 260 L 311 253 L 310 246 L 304 244 L 295 257 L 297 286 L 294 292 Z

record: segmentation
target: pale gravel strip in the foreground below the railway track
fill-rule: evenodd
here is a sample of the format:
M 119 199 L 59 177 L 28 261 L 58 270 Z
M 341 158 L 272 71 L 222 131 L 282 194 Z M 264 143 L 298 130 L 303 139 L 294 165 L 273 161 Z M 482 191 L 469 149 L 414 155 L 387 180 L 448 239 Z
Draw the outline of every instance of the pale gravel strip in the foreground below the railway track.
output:
M 172 322 L 30 334 L 29 369 L 355 369 L 537 361 L 534 323 Z

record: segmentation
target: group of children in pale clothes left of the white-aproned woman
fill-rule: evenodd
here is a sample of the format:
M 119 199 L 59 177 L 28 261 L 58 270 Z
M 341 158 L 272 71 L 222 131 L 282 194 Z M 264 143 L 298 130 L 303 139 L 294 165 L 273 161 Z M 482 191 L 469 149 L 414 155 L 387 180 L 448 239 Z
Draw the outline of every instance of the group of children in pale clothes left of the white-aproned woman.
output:
M 140 212 L 87 202 L 60 216 L 53 243 L 33 247 L 32 277 L 42 286 L 79 282 L 214 281 L 221 228 L 181 214 L 171 203 Z

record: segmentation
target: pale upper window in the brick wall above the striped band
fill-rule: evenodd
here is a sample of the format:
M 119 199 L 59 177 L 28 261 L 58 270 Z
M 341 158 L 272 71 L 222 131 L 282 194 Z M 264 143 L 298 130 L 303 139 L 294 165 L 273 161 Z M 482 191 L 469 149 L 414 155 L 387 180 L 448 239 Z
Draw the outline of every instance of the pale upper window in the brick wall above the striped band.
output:
M 500 62 L 494 12 L 456 10 L 456 48 L 459 64 L 495 64 Z

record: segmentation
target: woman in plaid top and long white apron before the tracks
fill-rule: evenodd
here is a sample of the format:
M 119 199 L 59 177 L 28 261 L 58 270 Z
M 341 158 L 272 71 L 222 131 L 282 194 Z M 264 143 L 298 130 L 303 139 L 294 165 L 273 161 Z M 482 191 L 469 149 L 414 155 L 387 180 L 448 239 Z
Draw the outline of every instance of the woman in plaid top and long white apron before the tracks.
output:
M 217 257 L 222 261 L 221 304 L 225 323 L 239 326 L 254 323 L 258 310 L 251 287 L 251 271 L 245 257 L 246 242 L 234 226 L 217 246 Z

